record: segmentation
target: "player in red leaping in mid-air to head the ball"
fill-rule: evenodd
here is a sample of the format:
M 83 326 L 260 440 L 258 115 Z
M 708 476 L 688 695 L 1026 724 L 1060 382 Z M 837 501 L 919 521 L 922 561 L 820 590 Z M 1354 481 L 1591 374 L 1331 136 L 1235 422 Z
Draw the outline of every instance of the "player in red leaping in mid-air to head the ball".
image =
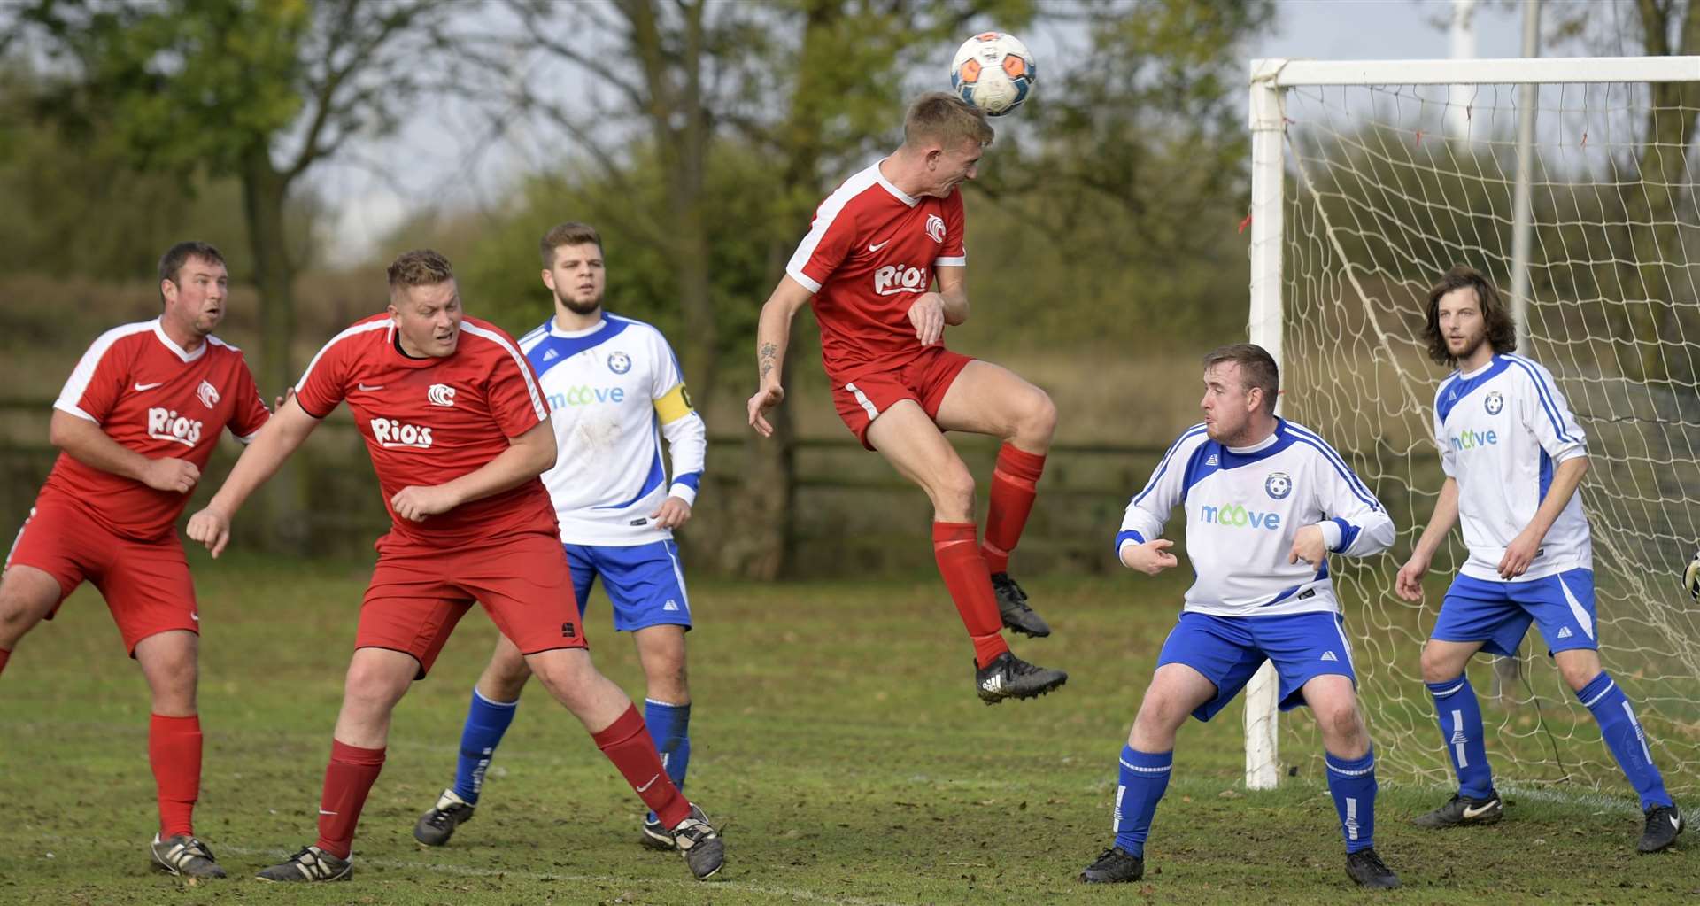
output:
M 762 306 L 762 386 L 750 398 L 750 425 L 770 435 L 765 415 L 785 398 L 780 362 L 790 320 L 813 297 L 840 418 L 933 501 L 933 558 L 974 639 L 974 685 L 986 704 L 1044 695 L 1068 682 L 1061 670 L 1012 654 L 1000 634 L 1000 622 L 1027 636 L 1051 634 L 1008 564 L 1034 507 L 1056 406 L 1015 372 L 944 345 L 945 325 L 967 320 L 957 187 L 974 178 L 991 139 L 986 114 L 954 95 L 928 93 L 910 107 L 903 146 L 821 202 Z M 945 440 L 947 430 L 1003 440 L 979 544 L 974 476 Z

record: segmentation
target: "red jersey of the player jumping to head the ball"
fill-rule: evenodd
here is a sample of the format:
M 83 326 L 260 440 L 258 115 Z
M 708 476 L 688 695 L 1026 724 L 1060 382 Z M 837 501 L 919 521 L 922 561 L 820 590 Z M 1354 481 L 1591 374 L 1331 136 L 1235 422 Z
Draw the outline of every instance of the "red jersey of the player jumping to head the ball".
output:
M 814 292 L 826 374 L 848 381 L 918 355 L 910 306 L 932 291 L 935 267 L 966 263 L 962 192 L 916 199 L 876 163 L 821 202 L 785 274 Z

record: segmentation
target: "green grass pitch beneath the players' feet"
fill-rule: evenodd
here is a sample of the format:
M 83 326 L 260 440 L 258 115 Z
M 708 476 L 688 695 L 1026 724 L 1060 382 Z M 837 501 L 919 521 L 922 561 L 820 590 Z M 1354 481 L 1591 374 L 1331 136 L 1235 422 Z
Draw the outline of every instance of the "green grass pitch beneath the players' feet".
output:
M 233 877 L 190 886 L 150 870 L 146 688 L 85 586 L 0 677 L 0 903 L 1700 901 L 1700 836 L 1637 857 L 1627 785 L 1567 796 L 1515 782 L 1501 787 L 1511 802 L 1501 824 L 1420 833 L 1411 816 L 1448 792 L 1384 780 L 1377 848 L 1406 887 L 1367 896 L 1343 874 L 1333 802 L 1311 762 L 1278 790 L 1244 790 L 1238 705 L 1182 729 L 1146 879 L 1078 884 L 1108 843 L 1115 758 L 1185 571 L 1030 580 L 1056 634 L 1015 649 L 1071 680 L 996 707 L 974 697 L 969 646 L 932 575 L 694 583 L 687 792 L 721 823 L 729 853 L 707 884 L 677 855 L 638 845 L 638 799 L 537 687 L 476 819 L 450 847 L 413 841 L 415 818 L 452 779 L 469 688 L 495 641 L 474 610 L 396 712 L 354 881 L 269 886 L 253 870 L 314 838 L 369 564 L 233 556 L 194 568 L 206 731 L 197 831 Z M 641 697 L 631 641 L 609 629 L 600 592 L 586 622 L 597 663 Z

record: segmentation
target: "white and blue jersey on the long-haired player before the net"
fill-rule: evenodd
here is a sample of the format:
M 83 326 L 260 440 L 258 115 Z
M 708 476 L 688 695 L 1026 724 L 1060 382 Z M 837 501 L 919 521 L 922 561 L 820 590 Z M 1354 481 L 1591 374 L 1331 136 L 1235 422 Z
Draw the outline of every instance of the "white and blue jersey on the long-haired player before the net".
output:
M 1552 486 L 1552 467 L 1588 454 L 1552 374 L 1522 355 L 1494 355 L 1472 374 L 1454 372 L 1435 391 L 1440 467 L 1459 483 L 1459 522 L 1470 558 L 1462 575 L 1504 581 L 1499 561 L 1528 527 Z M 1593 569 L 1593 541 L 1581 493 L 1552 522 L 1528 571 L 1533 581 L 1569 569 Z

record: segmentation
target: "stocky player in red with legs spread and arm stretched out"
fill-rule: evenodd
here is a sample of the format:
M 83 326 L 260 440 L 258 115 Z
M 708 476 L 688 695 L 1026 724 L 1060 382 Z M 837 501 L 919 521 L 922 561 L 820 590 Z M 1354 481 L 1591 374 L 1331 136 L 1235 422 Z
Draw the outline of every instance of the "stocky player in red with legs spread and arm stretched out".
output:
M 442 255 L 408 252 L 389 265 L 388 314 L 355 321 L 313 357 L 294 396 L 189 520 L 189 537 L 218 556 L 248 495 L 342 401 L 366 437 L 393 527 L 377 539 L 360 605 L 318 841 L 260 879 L 348 877 L 389 716 L 474 600 L 670 830 L 692 874 L 717 872 L 719 833 L 668 780 L 631 699 L 590 663 L 554 507 L 537 479 L 556 461 L 537 377 L 513 338 L 462 320 Z

